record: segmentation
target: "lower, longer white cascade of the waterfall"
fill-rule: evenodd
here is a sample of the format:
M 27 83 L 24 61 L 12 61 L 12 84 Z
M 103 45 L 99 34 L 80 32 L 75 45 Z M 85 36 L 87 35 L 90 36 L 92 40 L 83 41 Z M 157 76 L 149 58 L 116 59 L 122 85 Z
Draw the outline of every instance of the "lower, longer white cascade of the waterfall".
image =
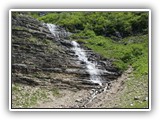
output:
M 74 46 L 73 50 L 75 51 L 75 54 L 78 56 L 78 59 L 86 63 L 87 72 L 90 74 L 90 80 L 93 83 L 98 83 L 102 86 L 101 77 L 99 76 L 100 71 L 96 68 L 96 64 L 88 61 L 85 51 L 80 47 L 80 45 L 76 41 L 72 41 L 72 44 Z

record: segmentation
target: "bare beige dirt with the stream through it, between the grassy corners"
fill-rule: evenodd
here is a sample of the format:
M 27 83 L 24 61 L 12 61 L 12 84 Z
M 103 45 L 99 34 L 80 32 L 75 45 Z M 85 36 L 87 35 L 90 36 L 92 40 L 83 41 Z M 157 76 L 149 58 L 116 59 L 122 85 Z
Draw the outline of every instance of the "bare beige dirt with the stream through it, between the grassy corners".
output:
M 35 108 L 116 108 L 120 95 L 125 91 L 124 81 L 132 72 L 129 68 L 117 80 L 102 88 L 88 90 L 60 90 L 60 96 L 50 97 L 48 102 L 39 102 Z M 120 104 L 120 103 L 119 103 Z

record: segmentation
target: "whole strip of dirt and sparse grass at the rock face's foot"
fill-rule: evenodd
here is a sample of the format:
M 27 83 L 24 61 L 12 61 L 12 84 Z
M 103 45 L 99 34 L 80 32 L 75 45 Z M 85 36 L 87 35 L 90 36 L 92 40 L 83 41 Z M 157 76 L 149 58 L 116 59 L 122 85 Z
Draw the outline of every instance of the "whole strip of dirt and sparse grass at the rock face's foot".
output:
M 13 108 L 147 108 L 147 87 L 137 83 L 137 87 L 128 86 L 130 81 L 137 82 L 133 77 L 130 67 L 117 80 L 103 87 L 60 89 L 52 84 L 35 87 L 15 84 L 12 86 L 12 105 Z M 142 88 L 144 90 L 140 91 Z

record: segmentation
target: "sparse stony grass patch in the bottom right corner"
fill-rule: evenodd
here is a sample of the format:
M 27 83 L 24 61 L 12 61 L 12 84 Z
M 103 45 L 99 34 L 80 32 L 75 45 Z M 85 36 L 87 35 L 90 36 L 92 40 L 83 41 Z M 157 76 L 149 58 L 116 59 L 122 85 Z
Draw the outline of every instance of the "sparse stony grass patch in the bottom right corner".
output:
M 129 77 L 125 81 L 126 90 L 120 96 L 121 108 L 148 108 L 148 76 Z M 134 98 L 138 96 L 139 99 Z

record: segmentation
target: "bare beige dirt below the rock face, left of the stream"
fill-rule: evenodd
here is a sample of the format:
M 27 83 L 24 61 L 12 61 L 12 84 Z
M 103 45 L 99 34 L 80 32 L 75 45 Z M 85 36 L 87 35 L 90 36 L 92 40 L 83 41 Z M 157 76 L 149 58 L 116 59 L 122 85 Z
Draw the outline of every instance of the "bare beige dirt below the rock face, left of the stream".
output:
M 73 92 L 70 90 L 61 90 L 59 97 L 50 97 L 48 102 L 39 102 L 35 108 L 77 108 L 77 102 L 80 99 L 87 97 L 89 94 L 87 90 L 80 90 Z

